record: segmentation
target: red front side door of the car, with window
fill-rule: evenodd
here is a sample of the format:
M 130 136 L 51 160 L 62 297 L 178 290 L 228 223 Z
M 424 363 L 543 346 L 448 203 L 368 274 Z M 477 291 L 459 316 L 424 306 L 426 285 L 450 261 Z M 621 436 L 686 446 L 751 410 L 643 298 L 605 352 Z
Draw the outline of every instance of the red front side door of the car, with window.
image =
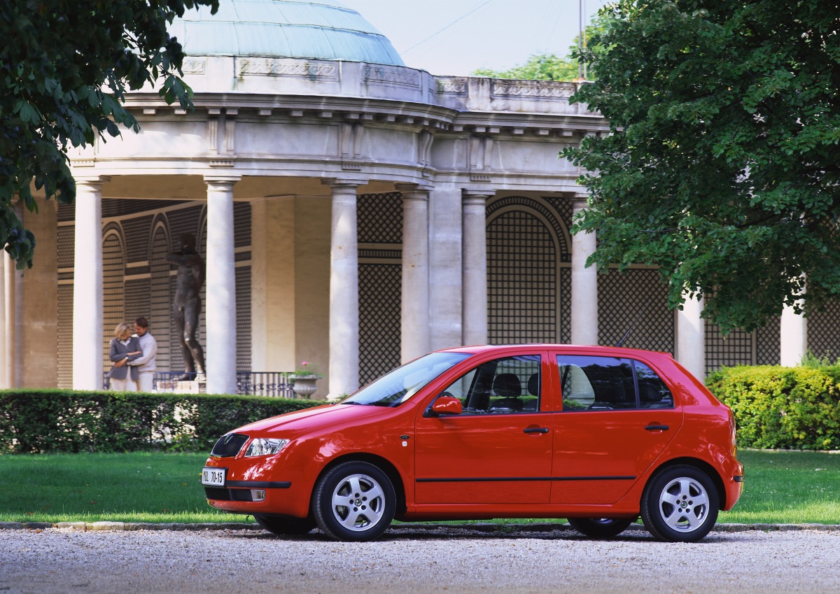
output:
M 553 415 L 542 397 L 549 393 L 546 357 L 528 352 L 483 362 L 436 395 L 459 399 L 461 414 L 421 411 L 417 503 L 549 502 Z

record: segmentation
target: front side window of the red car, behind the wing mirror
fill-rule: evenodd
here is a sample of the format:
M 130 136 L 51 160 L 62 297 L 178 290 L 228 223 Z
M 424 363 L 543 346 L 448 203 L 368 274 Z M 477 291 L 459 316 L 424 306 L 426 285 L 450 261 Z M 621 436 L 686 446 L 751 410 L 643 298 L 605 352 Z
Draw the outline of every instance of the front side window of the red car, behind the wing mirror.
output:
M 517 414 L 539 410 L 540 356 L 481 363 L 451 383 L 442 396 L 461 401 L 462 414 Z

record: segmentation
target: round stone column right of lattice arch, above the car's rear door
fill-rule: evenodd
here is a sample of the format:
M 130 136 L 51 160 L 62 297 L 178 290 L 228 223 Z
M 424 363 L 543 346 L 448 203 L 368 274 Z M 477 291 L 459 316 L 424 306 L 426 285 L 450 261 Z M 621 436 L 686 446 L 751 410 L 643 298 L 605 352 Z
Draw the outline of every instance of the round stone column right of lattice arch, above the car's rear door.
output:
M 585 194 L 575 194 L 572 213 L 576 216 L 587 206 Z M 586 258 L 595 253 L 594 232 L 572 236 L 572 343 L 598 344 L 598 273 L 595 266 L 586 268 Z

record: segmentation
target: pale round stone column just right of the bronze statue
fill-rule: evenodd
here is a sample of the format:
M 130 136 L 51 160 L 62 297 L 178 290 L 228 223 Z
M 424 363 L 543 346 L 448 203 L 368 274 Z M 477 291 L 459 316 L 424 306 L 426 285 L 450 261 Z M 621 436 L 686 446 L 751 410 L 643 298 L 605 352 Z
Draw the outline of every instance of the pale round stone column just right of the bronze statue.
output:
M 236 393 L 234 185 L 240 175 L 205 175 L 207 184 L 207 393 Z

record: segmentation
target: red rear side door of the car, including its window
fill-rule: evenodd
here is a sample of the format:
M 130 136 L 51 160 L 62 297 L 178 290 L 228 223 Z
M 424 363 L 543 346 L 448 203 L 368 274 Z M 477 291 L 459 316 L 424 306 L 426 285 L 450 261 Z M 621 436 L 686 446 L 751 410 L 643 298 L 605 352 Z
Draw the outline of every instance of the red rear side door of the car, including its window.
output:
M 563 401 L 554 414 L 551 503 L 615 503 L 674 438 L 682 409 L 644 362 L 554 357 Z

